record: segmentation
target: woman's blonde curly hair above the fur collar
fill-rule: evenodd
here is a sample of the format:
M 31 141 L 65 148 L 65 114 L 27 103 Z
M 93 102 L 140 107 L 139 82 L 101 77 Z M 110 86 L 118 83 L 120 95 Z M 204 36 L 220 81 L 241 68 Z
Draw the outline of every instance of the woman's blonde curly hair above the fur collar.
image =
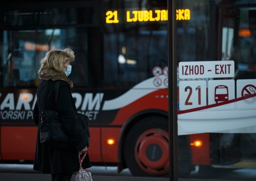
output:
M 70 48 L 52 49 L 46 53 L 45 57 L 41 60 L 41 67 L 38 70 L 40 75 L 41 70 L 52 69 L 64 74 L 62 67 L 67 62 L 73 62 L 75 60 L 74 51 Z

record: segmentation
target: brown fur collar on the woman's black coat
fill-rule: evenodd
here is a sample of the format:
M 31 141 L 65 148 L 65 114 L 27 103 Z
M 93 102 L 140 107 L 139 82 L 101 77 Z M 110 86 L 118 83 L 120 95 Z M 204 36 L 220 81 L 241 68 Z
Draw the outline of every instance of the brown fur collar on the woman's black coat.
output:
M 39 79 L 42 79 L 42 80 L 52 80 L 52 81 L 62 80 L 68 83 L 70 89 L 73 87 L 73 82 L 65 74 L 61 74 L 60 72 L 57 72 L 52 69 L 41 70 L 39 72 L 38 77 Z

